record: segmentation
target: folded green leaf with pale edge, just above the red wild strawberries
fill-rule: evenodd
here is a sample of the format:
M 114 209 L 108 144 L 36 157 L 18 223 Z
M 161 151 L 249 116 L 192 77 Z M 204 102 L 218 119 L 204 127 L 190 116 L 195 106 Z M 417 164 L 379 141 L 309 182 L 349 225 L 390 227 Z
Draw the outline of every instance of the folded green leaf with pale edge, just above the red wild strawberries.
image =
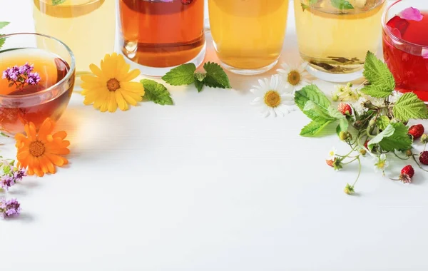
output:
M 412 138 L 409 138 L 409 128 L 403 123 L 390 123 L 382 133 L 367 143 L 370 150 L 373 145 L 379 144 L 384 151 L 408 150 L 412 147 Z

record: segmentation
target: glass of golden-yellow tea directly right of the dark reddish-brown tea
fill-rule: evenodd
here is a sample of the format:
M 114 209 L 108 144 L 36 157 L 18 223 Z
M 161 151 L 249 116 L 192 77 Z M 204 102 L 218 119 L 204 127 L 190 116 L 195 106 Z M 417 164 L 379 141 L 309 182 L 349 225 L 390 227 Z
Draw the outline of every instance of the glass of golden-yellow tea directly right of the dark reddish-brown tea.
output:
M 270 70 L 282 51 L 288 0 L 208 0 L 215 51 L 239 74 Z

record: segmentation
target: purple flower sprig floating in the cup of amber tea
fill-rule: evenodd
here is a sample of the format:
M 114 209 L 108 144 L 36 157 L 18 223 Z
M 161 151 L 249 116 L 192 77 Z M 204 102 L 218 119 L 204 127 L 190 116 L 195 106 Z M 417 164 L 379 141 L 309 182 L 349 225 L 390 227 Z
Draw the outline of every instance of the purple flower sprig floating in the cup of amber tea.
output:
M 37 85 L 41 78 L 39 73 L 33 72 L 34 65 L 25 63 L 22 66 L 13 66 L 6 68 L 3 71 L 3 76 L 1 78 L 7 79 L 9 87 L 16 86 L 16 88 L 22 88 L 27 83 L 29 85 Z

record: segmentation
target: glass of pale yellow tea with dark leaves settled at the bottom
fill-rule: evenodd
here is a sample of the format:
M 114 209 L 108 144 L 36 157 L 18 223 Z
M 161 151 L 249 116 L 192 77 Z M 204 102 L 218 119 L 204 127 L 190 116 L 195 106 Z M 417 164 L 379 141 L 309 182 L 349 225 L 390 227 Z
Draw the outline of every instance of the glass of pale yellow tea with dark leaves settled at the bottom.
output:
M 307 70 L 325 81 L 362 77 L 367 51 L 375 53 L 382 34 L 385 0 L 295 0 L 300 56 Z

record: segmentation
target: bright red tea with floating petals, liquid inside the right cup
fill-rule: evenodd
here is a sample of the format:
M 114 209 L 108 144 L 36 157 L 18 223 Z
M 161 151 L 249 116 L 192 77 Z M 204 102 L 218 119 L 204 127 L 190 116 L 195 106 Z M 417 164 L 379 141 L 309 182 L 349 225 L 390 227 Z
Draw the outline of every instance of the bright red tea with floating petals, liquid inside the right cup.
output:
M 383 35 L 384 59 L 395 78 L 397 90 L 412 91 L 423 101 L 428 101 L 428 52 L 424 55 L 422 46 L 428 47 L 428 11 L 422 11 L 422 20 L 414 21 L 394 16 L 387 22 L 387 28 L 399 40 L 392 42 Z

